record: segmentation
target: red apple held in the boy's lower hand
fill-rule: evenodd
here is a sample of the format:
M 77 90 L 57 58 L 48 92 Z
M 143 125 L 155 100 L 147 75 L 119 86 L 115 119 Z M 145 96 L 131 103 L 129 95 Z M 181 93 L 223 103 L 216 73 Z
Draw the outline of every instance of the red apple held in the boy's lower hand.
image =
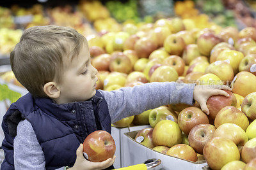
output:
M 113 158 L 116 152 L 115 141 L 106 131 L 95 131 L 84 140 L 83 152 L 86 159 L 92 162 L 102 162 Z M 86 153 L 86 154 L 85 154 Z

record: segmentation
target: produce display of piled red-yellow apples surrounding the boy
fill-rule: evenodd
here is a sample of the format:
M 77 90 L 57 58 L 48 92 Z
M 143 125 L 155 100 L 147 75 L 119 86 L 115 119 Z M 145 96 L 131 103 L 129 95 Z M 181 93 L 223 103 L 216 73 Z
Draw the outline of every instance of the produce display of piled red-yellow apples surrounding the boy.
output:
M 156 1 L 79 1 L 76 8 L 0 8 L 0 52 L 10 53 L 22 29 L 49 24 L 69 26 L 88 40 L 92 66 L 99 71 L 96 89 L 111 91 L 166 81 L 177 82 L 177 89 L 182 83 L 228 85 L 232 87 L 232 92 L 225 90 L 228 97 L 212 96 L 207 100 L 209 115 L 198 103 L 169 104 L 123 118 L 113 126 L 150 125 L 136 134 L 135 141 L 183 160 L 205 160 L 211 169 L 255 168 L 256 22 L 253 7 L 247 6 L 250 1 L 236 1 L 236 5 L 220 0 L 163 1 L 169 9 L 164 13 L 170 15 L 150 11 L 147 2 Z M 17 24 L 20 16 L 32 17 Z M 244 24 L 243 29 L 237 20 Z M 12 71 L 0 78 L 22 87 Z M 90 138 L 97 138 L 99 133 Z M 115 141 L 110 134 L 104 135 L 111 154 L 106 148 L 102 160 L 115 154 Z M 90 146 L 90 138 L 84 146 Z M 95 162 L 100 157 L 90 156 L 96 147 L 106 145 L 104 141 L 99 143 L 101 146 L 86 149 Z

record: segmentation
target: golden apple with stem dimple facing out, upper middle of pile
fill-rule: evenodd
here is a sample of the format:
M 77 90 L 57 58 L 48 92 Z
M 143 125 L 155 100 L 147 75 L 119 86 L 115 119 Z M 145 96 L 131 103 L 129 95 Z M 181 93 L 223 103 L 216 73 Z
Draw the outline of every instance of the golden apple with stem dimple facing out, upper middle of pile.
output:
M 186 44 L 184 39 L 177 34 L 170 34 L 164 40 L 164 49 L 171 55 L 181 55 Z

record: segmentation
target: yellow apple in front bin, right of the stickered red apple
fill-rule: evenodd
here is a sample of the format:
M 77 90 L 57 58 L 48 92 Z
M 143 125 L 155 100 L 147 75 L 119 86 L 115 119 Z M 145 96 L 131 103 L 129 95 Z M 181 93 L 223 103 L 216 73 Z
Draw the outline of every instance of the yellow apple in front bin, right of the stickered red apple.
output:
M 181 143 L 182 132 L 176 122 L 172 120 L 161 120 L 154 127 L 152 138 L 155 146 L 172 147 Z

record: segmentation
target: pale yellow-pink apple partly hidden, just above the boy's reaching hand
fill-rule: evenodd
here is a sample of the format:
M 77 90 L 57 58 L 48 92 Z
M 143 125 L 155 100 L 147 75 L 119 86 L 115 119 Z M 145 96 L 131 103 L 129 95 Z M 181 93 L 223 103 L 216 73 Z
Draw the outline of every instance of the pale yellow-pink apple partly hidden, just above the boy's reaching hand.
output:
M 218 76 L 221 81 L 231 82 L 234 79 L 234 71 L 230 64 L 223 60 L 212 62 L 206 69 L 205 73 L 212 73 Z

